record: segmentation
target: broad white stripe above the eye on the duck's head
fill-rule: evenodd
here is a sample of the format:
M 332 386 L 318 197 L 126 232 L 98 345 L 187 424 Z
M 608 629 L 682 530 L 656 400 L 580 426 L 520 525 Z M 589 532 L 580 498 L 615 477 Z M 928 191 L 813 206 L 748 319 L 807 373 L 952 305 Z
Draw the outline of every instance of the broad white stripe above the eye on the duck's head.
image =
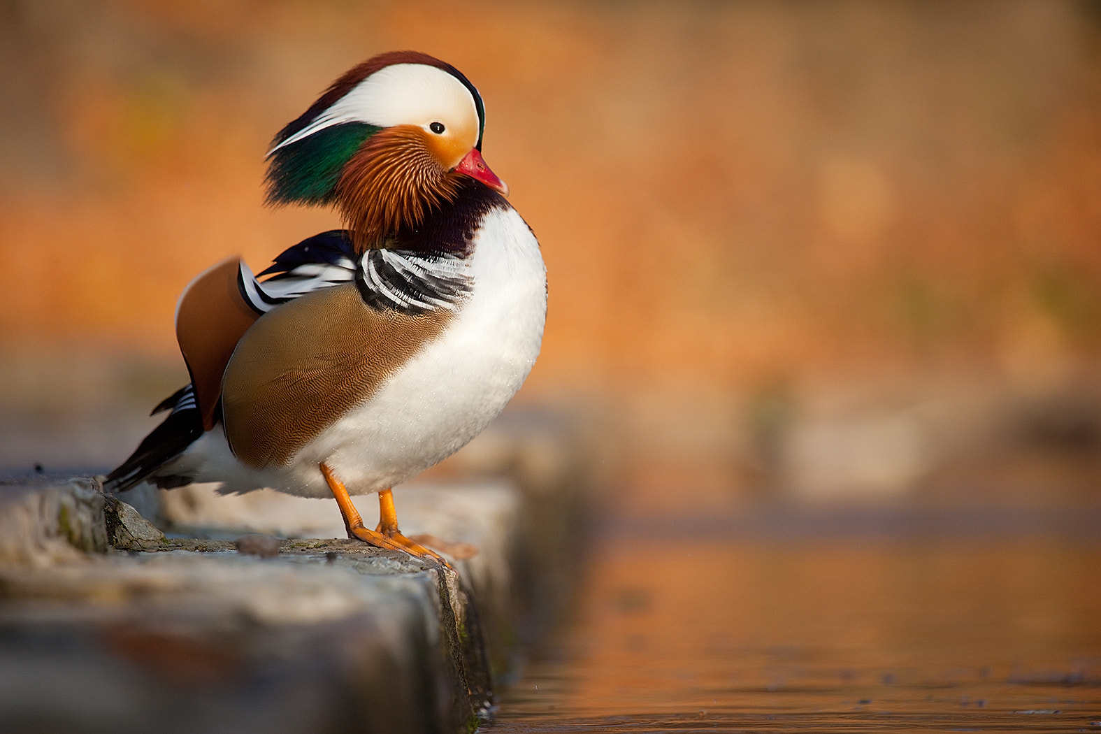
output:
M 366 122 L 379 128 L 396 124 L 427 127 L 443 122 L 446 129 L 462 121 L 478 128 L 478 107 L 467 87 L 454 76 L 424 64 L 393 64 L 367 77 L 324 110 L 309 124 L 268 152 L 345 122 Z

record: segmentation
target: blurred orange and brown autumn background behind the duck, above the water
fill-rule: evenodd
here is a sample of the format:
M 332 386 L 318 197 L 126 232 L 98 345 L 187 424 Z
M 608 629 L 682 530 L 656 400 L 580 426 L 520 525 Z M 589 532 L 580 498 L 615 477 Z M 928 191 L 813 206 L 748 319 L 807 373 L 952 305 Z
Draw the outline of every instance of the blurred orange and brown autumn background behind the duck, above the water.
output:
M 385 50 L 460 68 L 538 234 L 521 410 L 607 499 L 1095 506 L 1097 2 L 0 2 L 0 465 L 107 470 L 175 300 L 338 224 L 272 135 Z

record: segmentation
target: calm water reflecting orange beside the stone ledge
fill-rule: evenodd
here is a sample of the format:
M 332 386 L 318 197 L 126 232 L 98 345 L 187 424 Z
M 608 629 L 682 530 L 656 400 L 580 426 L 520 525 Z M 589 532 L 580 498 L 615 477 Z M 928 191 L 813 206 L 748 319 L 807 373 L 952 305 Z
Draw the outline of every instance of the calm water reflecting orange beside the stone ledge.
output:
M 781 517 L 606 524 L 487 731 L 1101 732 L 1097 513 Z

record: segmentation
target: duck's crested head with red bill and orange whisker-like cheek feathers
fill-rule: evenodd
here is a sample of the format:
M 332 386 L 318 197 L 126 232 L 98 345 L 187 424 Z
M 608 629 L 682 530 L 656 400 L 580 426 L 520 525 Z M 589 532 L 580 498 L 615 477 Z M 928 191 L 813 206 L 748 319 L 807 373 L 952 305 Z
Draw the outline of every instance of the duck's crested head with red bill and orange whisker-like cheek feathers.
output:
M 381 54 L 337 79 L 275 135 L 268 201 L 335 204 L 357 249 L 453 199 L 464 177 L 506 195 L 481 157 L 486 109 L 455 67 L 411 51 Z

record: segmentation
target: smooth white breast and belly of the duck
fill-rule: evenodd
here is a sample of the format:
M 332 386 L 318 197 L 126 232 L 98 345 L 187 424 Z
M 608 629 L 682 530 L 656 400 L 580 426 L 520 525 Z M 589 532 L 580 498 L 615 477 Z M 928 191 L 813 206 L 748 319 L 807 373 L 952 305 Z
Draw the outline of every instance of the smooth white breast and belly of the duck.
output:
M 466 445 L 520 390 L 546 318 L 538 242 L 509 208 L 486 217 L 473 245 L 473 287 L 448 328 L 295 457 L 295 493 L 329 495 L 320 461 L 352 494 L 401 483 Z

